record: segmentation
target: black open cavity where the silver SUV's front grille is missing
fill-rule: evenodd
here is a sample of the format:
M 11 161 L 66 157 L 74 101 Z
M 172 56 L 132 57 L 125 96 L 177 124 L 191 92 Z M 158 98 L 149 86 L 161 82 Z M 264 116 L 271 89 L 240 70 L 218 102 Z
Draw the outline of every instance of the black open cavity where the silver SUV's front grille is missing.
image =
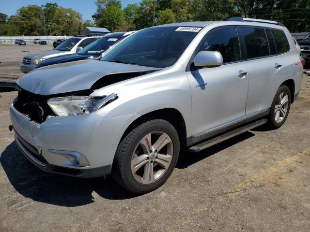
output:
M 14 103 L 14 107 L 20 113 L 27 115 L 33 121 L 42 123 L 47 116 L 55 116 L 54 112 L 49 108 L 47 100 L 49 97 L 34 94 L 23 89 L 19 89 L 18 97 Z

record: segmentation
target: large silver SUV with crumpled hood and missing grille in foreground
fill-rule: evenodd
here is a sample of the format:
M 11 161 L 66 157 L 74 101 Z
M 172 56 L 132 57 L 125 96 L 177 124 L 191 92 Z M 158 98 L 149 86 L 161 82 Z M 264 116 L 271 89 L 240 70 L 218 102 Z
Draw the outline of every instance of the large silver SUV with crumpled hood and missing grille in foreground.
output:
M 44 171 L 112 174 L 141 194 L 165 183 L 181 148 L 199 152 L 263 124 L 281 127 L 303 67 L 285 27 L 255 21 L 142 29 L 101 61 L 24 75 L 10 108 L 16 144 Z

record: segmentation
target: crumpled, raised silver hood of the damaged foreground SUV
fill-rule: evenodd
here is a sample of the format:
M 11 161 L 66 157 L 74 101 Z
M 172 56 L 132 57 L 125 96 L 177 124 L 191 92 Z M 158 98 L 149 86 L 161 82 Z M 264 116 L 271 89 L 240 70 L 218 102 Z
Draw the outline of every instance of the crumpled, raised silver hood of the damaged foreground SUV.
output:
M 89 89 L 108 74 L 159 70 L 159 68 L 101 60 L 82 60 L 36 69 L 19 78 L 16 84 L 35 94 L 51 95 Z

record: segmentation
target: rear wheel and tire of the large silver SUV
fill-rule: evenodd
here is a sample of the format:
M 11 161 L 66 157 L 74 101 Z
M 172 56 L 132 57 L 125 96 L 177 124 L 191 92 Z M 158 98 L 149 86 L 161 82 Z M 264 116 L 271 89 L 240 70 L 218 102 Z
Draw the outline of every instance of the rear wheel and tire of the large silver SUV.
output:
M 267 127 L 271 130 L 280 128 L 291 108 L 291 91 L 287 86 L 279 87 L 270 107 L 270 113 L 267 116 Z

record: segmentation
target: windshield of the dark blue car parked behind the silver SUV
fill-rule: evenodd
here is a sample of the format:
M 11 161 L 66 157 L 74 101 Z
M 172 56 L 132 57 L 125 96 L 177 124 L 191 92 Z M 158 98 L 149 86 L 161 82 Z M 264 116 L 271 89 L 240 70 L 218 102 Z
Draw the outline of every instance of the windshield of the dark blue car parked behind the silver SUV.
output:
M 118 38 L 103 37 L 93 43 L 88 44 L 86 47 L 77 52 L 78 55 L 99 55 L 114 43 L 119 41 Z

